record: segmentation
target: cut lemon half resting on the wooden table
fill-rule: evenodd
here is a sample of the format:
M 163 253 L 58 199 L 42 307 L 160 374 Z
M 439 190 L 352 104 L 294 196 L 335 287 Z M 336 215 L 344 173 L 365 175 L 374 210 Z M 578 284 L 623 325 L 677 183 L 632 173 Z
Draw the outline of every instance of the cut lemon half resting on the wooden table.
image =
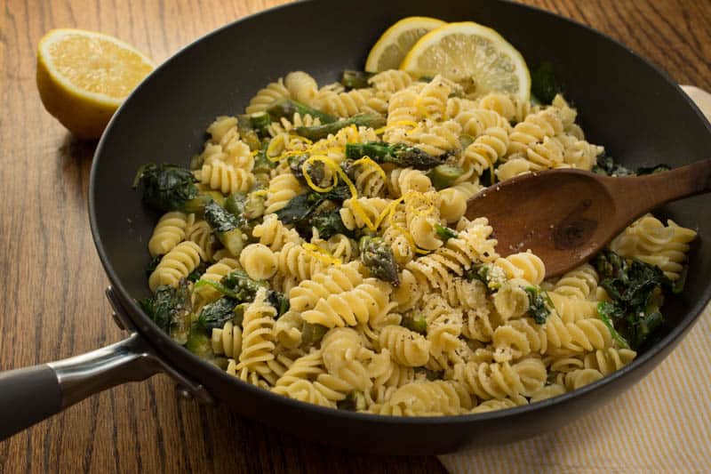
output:
M 44 108 L 79 138 L 98 138 L 116 108 L 154 68 L 113 36 L 52 29 L 37 48 L 37 89 Z

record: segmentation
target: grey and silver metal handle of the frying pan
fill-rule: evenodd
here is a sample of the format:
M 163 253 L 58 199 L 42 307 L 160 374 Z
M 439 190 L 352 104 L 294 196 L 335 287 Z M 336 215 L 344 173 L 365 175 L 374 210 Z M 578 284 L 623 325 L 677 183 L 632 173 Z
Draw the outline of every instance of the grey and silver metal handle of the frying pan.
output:
M 81 356 L 0 373 L 0 441 L 124 382 L 161 372 L 138 333 Z

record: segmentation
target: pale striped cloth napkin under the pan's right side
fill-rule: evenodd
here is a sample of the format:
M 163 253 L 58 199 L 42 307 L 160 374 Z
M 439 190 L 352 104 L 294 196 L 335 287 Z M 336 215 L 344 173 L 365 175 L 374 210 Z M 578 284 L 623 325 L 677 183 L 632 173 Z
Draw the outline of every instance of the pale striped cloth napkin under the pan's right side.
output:
M 711 94 L 683 86 L 711 120 Z M 711 304 L 651 374 L 553 433 L 439 456 L 451 473 L 711 472 Z

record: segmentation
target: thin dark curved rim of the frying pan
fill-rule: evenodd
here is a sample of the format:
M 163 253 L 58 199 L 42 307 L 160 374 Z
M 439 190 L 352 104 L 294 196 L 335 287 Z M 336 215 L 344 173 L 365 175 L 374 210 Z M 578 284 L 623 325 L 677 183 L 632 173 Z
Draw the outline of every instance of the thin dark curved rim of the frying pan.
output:
M 673 89 L 677 92 L 677 94 L 681 94 L 683 100 L 686 100 L 686 103 L 691 106 L 691 108 L 694 110 L 698 118 L 701 120 L 701 122 L 705 125 L 707 132 L 711 133 L 711 125 L 709 125 L 709 122 L 704 116 L 697 105 L 691 100 L 691 98 L 686 94 L 686 92 L 683 92 L 683 89 L 677 84 L 674 79 L 669 76 L 667 71 L 663 70 L 662 68 L 659 68 L 656 64 L 651 62 L 651 60 L 647 60 L 644 58 L 642 55 L 638 54 L 637 52 L 633 51 L 627 45 L 622 44 L 619 42 L 617 39 L 596 30 L 595 28 L 592 28 L 586 24 L 580 23 L 577 20 L 571 20 L 570 18 L 563 17 L 562 15 L 555 13 L 555 12 L 549 12 L 547 10 L 544 10 L 542 8 L 532 6 L 532 5 L 527 5 L 527 4 L 518 4 L 515 3 L 512 0 L 499 0 L 500 2 L 504 4 L 510 4 L 514 6 L 515 8 L 520 8 L 524 10 L 529 10 L 533 12 L 537 12 L 539 14 L 544 14 L 544 15 L 549 15 L 551 17 L 554 17 L 556 21 L 563 21 L 567 22 L 568 24 L 571 24 L 574 27 L 577 28 L 584 28 L 587 30 L 588 33 L 592 33 L 595 36 L 600 36 L 603 38 L 603 40 L 607 42 L 611 42 L 612 44 L 618 46 L 624 52 L 626 52 L 628 55 L 631 56 L 631 60 L 637 60 L 640 61 L 643 66 L 646 68 L 650 68 L 651 72 L 654 74 L 657 74 L 661 76 L 667 84 L 672 86 Z M 387 416 L 387 415 L 379 415 L 379 414 L 367 414 L 367 413 L 358 413 L 358 412 L 351 412 L 348 410 L 340 410 L 340 409 L 334 409 L 330 407 L 324 407 L 324 406 L 317 406 L 314 404 L 310 404 L 308 402 L 301 402 L 299 400 L 295 400 L 292 398 L 287 398 L 281 395 L 278 395 L 276 393 L 273 393 L 269 390 L 263 390 L 258 387 L 253 386 L 250 383 L 244 382 L 236 377 L 233 377 L 229 374 L 227 374 L 225 371 L 220 370 L 216 366 L 212 366 L 212 364 L 204 361 L 203 359 L 197 357 L 196 355 L 192 354 L 188 349 L 185 349 L 184 347 L 180 346 L 178 343 L 175 341 L 172 341 L 170 336 L 166 333 L 163 333 L 154 323 L 153 321 L 148 318 L 143 311 L 140 309 L 139 305 L 136 303 L 135 299 L 126 291 L 124 288 L 124 285 L 121 282 L 121 279 L 116 275 L 116 271 L 113 269 L 113 266 L 110 264 L 109 258 L 108 258 L 108 253 L 104 249 L 104 245 L 102 243 L 101 237 L 100 237 L 100 229 L 99 229 L 99 224 L 97 221 L 97 214 L 96 214 L 96 205 L 95 205 L 95 196 L 97 194 L 97 189 L 96 189 L 96 176 L 98 174 L 98 169 L 100 167 L 100 160 L 101 160 L 101 155 L 103 152 L 103 149 L 106 145 L 107 141 L 107 136 L 111 133 L 112 129 L 114 128 L 114 125 L 116 123 L 116 119 L 118 116 L 121 115 L 122 110 L 124 107 L 127 107 L 127 104 L 131 104 L 133 98 L 140 93 L 140 90 L 142 89 L 143 85 L 151 80 L 153 76 L 156 75 L 159 71 L 162 71 L 164 68 L 166 68 L 173 60 L 175 60 L 176 57 L 181 55 L 183 52 L 186 52 L 192 48 L 195 48 L 198 44 L 201 44 L 206 40 L 207 38 L 211 38 L 212 36 L 218 36 L 224 31 L 230 29 L 230 28 L 238 28 L 238 25 L 244 21 L 251 20 L 252 18 L 259 17 L 262 15 L 268 15 L 271 12 L 279 11 L 279 10 L 284 10 L 284 9 L 292 9 L 292 8 L 299 8 L 300 4 L 314 4 L 318 2 L 323 2 L 324 4 L 329 4 L 327 1 L 323 0 L 299 0 L 297 2 L 293 2 L 290 4 L 281 4 L 277 5 L 275 7 L 269 8 L 267 10 L 263 10 L 260 12 L 255 12 L 252 13 L 248 16 L 242 17 L 240 19 L 234 20 L 226 25 L 221 26 L 220 28 L 216 28 L 209 33 L 205 34 L 204 36 L 198 37 L 196 40 L 192 41 L 191 43 L 185 45 L 184 47 L 180 48 L 178 52 L 175 52 L 170 56 L 167 60 L 164 60 L 162 64 L 160 64 L 156 69 L 149 74 L 135 89 L 134 91 L 124 100 L 124 103 L 121 105 L 120 108 L 116 111 L 116 114 L 111 118 L 111 120 L 108 123 L 108 126 L 105 130 L 105 132 L 102 134 L 99 144 L 97 145 L 96 151 L 93 156 L 93 161 L 92 161 L 92 169 L 90 173 L 90 181 L 89 181 L 89 190 L 88 190 L 88 210 L 89 210 L 89 220 L 90 220 L 90 226 L 91 226 L 91 231 L 92 231 L 92 239 L 94 242 L 94 245 L 96 247 L 97 253 L 99 254 L 101 265 L 104 268 L 104 271 L 106 272 L 109 282 L 111 285 L 116 289 L 116 291 L 119 293 L 122 301 L 124 301 L 125 304 L 128 305 L 127 313 L 128 316 L 132 318 L 132 320 L 136 323 L 136 318 L 138 317 L 140 322 L 143 324 L 137 324 L 137 327 L 139 328 L 138 331 L 143 336 L 146 338 L 147 342 L 156 347 L 156 350 L 161 354 L 162 358 L 168 358 L 165 356 L 164 352 L 165 350 L 178 350 L 180 352 L 181 356 L 188 356 L 188 358 L 192 358 L 194 362 L 197 363 L 198 366 L 201 366 L 205 372 L 208 374 L 211 374 L 212 376 L 220 378 L 223 382 L 228 382 L 230 384 L 233 384 L 234 387 L 239 387 L 241 390 L 248 390 L 251 391 L 254 396 L 257 397 L 263 397 L 263 398 L 268 398 L 269 400 L 273 400 L 276 403 L 284 404 L 286 406 L 290 406 L 292 409 L 295 410 L 301 410 L 301 411 L 309 411 L 313 412 L 314 414 L 321 414 L 325 416 L 338 416 L 341 418 L 346 418 L 348 420 L 352 420 L 353 422 L 376 422 L 378 424 L 380 423 L 387 423 L 387 424 L 397 424 L 397 425 L 402 425 L 403 427 L 406 426 L 412 426 L 412 425 L 431 425 L 433 423 L 437 424 L 460 424 L 460 423 L 475 423 L 475 422 L 483 422 L 483 421 L 491 421 L 493 419 L 499 419 L 499 420 L 505 420 L 507 418 L 515 417 L 518 416 L 519 414 L 525 414 L 529 413 L 531 411 L 536 411 L 536 410 L 541 410 L 545 409 L 549 406 L 557 405 L 557 404 L 564 404 L 567 401 L 570 401 L 573 398 L 582 398 L 589 394 L 592 391 L 598 390 L 602 388 L 603 386 L 606 386 L 612 382 L 616 382 L 619 378 L 625 377 L 628 373 L 633 372 L 637 370 L 638 368 L 642 366 L 646 366 L 647 364 L 651 363 L 651 359 L 656 358 L 659 356 L 660 353 L 664 352 L 665 349 L 668 348 L 667 354 L 664 355 L 664 358 L 667 357 L 668 353 L 674 349 L 674 345 L 680 341 L 682 341 L 683 336 L 685 333 L 687 333 L 691 327 L 697 322 L 699 319 L 701 313 L 703 310 L 706 308 L 707 304 L 709 301 L 711 301 L 711 282 L 708 283 L 704 291 L 701 293 L 700 298 L 691 305 L 691 308 L 686 311 L 686 314 L 684 317 L 682 317 L 678 324 L 675 325 L 669 333 L 667 333 L 663 338 L 661 338 L 659 341 L 654 343 L 649 349 L 646 349 L 642 354 L 640 354 L 635 360 L 629 364 L 628 366 L 623 367 L 622 369 L 610 374 L 604 376 L 602 379 L 590 383 L 586 385 L 585 387 L 582 387 L 578 390 L 573 390 L 571 392 L 566 392 L 563 395 L 557 396 L 555 398 L 547 398 L 545 400 L 541 400 L 538 402 L 534 402 L 525 406 L 516 406 L 514 408 L 508 408 L 504 410 L 496 410 L 492 412 L 487 412 L 487 413 L 481 413 L 481 414 L 459 414 L 459 415 L 438 415 L 438 416 L 418 416 L 418 417 L 403 417 L 403 416 Z M 147 324 L 148 325 L 147 325 Z M 141 327 L 143 326 L 143 327 Z M 156 343 L 159 341 L 160 343 Z M 671 348 L 669 346 L 672 346 Z M 661 360 L 659 360 L 661 362 Z M 657 364 L 659 364 L 659 362 Z M 172 366 L 172 362 L 170 362 Z M 175 367 L 176 370 L 183 371 L 184 369 L 182 367 Z M 646 373 L 648 374 L 648 373 Z M 644 374 L 643 376 L 646 376 Z M 188 374 L 192 376 L 192 374 Z M 195 377 L 196 379 L 199 380 L 198 377 Z M 634 383 L 633 383 L 634 384 Z M 629 385 L 627 388 L 624 389 L 624 391 L 627 391 L 631 388 L 631 385 Z

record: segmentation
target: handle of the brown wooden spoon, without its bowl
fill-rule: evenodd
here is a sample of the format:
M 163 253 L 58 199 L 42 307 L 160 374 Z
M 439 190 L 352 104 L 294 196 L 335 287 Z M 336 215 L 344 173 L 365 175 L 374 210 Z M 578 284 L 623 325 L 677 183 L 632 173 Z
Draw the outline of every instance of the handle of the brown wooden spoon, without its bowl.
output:
M 711 158 L 664 173 L 608 178 L 603 183 L 617 203 L 615 211 L 620 224 L 628 223 L 659 205 L 711 192 Z

